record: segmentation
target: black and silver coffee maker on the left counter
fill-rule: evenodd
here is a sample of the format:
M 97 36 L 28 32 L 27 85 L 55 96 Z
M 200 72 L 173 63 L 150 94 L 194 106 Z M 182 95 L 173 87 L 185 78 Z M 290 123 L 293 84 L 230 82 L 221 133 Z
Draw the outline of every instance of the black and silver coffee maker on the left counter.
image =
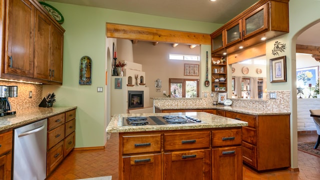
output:
M 18 86 L 0 85 L 0 116 L 13 115 L 15 111 L 11 110 L 11 104 L 8 97 L 18 96 Z

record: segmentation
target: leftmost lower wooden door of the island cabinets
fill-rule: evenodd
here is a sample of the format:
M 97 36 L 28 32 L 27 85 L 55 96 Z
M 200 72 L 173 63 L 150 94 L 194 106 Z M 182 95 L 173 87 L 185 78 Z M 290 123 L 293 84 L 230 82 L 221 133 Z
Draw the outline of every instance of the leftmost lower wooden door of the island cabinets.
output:
M 161 154 L 122 157 L 122 178 L 130 180 L 161 180 Z

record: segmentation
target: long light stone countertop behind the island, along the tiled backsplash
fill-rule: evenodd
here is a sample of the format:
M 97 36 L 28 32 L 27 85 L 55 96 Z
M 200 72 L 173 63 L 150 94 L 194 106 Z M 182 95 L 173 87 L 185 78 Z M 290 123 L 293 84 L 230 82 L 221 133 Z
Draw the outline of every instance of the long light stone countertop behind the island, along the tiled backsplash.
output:
M 168 107 L 167 105 L 163 106 L 154 106 L 158 109 L 221 109 L 229 110 L 233 112 L 246 113 L 251 115 L 285 115 L 290 114 L 290 112 L 281 111 L 281 110 L 270 110 L 270 109 L 256 109 L 256 108 L 245 108 L 245 107 L 235 107 L 227 105 L 205 105 L 205 106 L 183 106 L 183 107 Z

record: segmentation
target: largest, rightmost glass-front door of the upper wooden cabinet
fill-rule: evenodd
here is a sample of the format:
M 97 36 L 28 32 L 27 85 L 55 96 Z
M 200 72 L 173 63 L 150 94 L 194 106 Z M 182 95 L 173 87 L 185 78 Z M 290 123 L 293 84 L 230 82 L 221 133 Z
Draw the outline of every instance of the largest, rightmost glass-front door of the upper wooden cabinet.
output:
M 243 39 L 267 29 L 267 16 L 267 3 L 244 16 Z

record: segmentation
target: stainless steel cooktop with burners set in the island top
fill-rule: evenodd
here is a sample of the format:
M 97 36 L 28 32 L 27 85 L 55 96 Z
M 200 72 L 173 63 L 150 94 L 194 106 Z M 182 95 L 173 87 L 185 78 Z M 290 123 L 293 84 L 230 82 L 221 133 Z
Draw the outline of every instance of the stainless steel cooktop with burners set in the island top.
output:
M 131 125 L 165 125 L 180 123 L 203 123 L 200 119 L 182 115 L 132 116 L 123 117 L 123 126 Z

